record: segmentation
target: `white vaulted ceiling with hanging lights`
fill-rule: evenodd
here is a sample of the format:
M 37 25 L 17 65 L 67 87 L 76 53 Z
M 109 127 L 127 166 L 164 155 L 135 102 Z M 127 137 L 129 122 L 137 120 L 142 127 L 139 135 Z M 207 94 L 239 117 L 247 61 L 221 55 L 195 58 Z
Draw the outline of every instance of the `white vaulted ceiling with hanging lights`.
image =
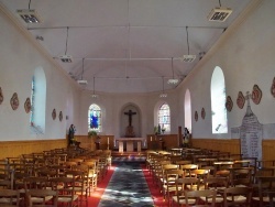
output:
M 0 0 L 84 89 L 151 92 L 184 79 L 251 0 Z M 43 22 L 26 24 L 18 9 L 35 9 Z M 233 10 L 224 22 L 208 21 L 215 7 Z M 197 55 L 193 63 L 178 57 Z M 67 36 L 68 35 L 68 36 Z M 67 46 L 66 46 L 67 42 Z M 67 52 L 65 52 L 67 50 Z M 56 58 L 73 56 L 73 63 Z M 82 62 L 84 59 L 84 62 Z M 84 63 L 84 64 L 82 64 Z M 82 73 L 84 69 L 84 73 Z M 94 77 L 96 83 L 94 84 Z M 164 79 L 164 85 L 163 85 Z

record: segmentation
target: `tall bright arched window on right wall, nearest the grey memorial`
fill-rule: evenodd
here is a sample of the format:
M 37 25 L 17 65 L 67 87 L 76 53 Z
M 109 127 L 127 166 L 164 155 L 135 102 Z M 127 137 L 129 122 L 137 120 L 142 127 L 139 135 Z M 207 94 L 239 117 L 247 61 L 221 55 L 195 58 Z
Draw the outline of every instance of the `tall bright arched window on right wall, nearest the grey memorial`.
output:
M 216 67 L 211 78 L 212 133 L 228 133 L 226 84 L 222 69 Z

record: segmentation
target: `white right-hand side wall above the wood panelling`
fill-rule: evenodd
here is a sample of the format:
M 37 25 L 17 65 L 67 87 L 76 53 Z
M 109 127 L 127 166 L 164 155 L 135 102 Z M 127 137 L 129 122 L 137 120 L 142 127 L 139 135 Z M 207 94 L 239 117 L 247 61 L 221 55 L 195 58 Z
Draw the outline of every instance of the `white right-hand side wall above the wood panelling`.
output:
M 251 100 L 251 108 L 261 123 L 275 122 L 275 99 L 271 86 L 275 77 L 275 1 L 264 0 L 240 26 L 228 29 L 223 39 L 216 45 L 211 55 L 206 55 L 193 74 L 180 86 L 180 90 L 190 89 L 193 103 L 194 138 L 231 138 L 230 129 L 240 127 L 246 111 L 237 106 L 238 92 L 252 92 L 256 84 L 263 91 L 260 105 Z M 216 66 L 224 73 L 227 96 L 233 100 L 233 109 L 228 112 L 229 133 L 211 133 L 210 83 Z M 183 94 L 183 92 L 180 92 Z M 205 107 L 206 119 L 200 117 Z M 199 113 L 198 122 L 194 119 Z

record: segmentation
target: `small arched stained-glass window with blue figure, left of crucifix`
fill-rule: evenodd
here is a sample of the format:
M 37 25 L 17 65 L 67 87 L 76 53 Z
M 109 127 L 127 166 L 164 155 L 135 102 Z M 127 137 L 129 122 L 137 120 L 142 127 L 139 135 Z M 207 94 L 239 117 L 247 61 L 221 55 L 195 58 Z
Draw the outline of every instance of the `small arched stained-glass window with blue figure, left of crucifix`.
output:
M 101 109 L 98 105 L 92 103 L 88 111 L 88 131 L 101 131 Z

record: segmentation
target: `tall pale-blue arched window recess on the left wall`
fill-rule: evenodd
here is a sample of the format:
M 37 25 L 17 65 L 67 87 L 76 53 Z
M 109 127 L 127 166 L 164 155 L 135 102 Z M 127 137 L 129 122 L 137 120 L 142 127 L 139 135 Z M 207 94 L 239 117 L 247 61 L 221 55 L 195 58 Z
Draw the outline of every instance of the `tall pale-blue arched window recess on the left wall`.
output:
M 46 119 L 46 76 L 42 67 L 34 69 L 31 92 L 32 109 L 30 115 L 31 126 L 45 131 Z

